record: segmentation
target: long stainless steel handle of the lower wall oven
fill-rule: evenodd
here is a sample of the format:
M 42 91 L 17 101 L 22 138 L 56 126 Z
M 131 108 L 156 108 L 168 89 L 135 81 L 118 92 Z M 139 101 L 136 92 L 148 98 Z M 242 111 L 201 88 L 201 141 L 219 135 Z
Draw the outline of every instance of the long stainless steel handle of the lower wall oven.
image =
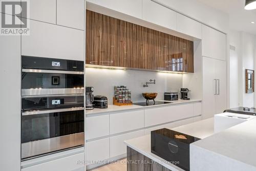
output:
M 28 112 L 22 112 L 22 116 L 39 115 L 39 114 L 56 113 L 56 112 L 81 111 L 81 110 L 84 110 L 84 107 L 74 107 L 74 108 L 68 108 L 68 109 L 28 111 Z

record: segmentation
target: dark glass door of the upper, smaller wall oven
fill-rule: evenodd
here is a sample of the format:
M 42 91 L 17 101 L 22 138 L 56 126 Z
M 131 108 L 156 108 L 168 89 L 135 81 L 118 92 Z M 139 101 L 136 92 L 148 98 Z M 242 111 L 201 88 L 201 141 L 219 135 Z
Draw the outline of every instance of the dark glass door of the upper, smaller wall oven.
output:
M 83 74 L 22 72 L 22 96 L 82 94 Z

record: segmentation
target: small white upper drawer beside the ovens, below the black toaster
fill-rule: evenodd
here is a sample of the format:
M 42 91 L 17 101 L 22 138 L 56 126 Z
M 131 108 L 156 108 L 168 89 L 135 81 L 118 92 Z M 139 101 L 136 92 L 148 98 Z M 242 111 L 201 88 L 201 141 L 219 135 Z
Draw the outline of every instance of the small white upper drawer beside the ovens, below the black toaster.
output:
M 109 134 L 109 115 L 86 117 L 86 140 L 108 136 Z

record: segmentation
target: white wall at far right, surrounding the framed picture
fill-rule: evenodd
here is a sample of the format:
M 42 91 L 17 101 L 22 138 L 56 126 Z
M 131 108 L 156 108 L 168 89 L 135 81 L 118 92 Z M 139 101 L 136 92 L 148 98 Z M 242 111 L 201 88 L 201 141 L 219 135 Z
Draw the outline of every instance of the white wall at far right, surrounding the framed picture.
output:
M 230 31 L 230 108 L 256 106 L 255 93 L 245 93 L 245 69 L 255 70 L 256 36 Z M 255 101 L 255 102 L 254 102 Z

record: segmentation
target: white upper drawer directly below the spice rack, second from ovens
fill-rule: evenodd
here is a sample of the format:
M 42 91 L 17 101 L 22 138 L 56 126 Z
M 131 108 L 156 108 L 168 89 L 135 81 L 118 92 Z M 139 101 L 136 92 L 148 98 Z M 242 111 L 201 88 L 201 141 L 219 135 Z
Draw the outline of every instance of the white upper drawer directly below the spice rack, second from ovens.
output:
M 110 114 L 110 134 L 144 127 L 144 110 Z

